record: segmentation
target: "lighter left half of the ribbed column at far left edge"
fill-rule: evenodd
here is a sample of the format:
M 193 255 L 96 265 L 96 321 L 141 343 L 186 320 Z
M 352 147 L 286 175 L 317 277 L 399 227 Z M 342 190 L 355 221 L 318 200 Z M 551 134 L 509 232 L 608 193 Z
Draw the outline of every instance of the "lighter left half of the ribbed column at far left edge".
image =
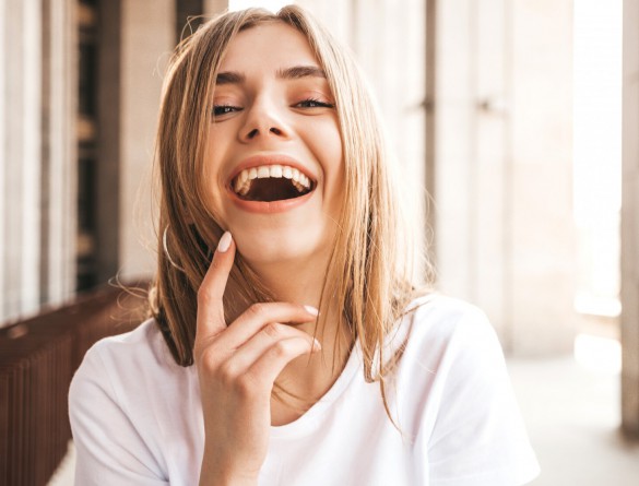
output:
M 0 7 L 0 319 L 39 307 L 42 5 Z

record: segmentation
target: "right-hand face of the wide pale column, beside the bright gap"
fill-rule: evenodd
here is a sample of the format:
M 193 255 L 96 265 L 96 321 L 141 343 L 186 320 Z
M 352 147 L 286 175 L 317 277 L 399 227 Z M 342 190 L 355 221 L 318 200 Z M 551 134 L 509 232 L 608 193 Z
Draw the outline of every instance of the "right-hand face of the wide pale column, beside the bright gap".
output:
M 571 352 L 572 1 L 512 7 L 512 345 Z

